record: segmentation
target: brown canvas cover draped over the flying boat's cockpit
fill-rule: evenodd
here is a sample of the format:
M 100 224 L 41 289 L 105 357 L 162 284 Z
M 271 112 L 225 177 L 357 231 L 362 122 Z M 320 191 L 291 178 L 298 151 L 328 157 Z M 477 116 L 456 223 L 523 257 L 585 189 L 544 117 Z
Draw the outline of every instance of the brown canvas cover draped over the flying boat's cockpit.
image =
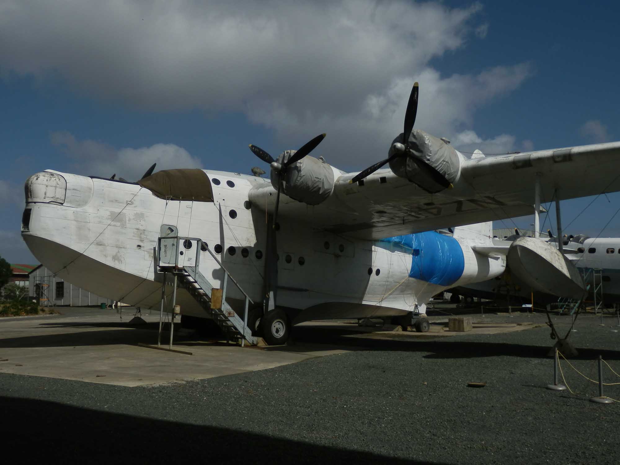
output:
M 213 201 L 211 181 L 201 169 L 164 169 L 138 181 L 159 198 Z

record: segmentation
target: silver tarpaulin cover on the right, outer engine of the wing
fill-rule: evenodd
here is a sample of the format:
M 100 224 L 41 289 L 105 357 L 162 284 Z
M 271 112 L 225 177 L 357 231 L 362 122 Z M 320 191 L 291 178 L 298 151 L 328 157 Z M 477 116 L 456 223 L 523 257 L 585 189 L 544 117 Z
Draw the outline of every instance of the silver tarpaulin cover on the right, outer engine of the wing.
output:
M 402 138 L 403 134 L 401 133 L 392 141 L 388 156 L 394 154 L 395 142 L 404 143 Z M 418 166 L 411 159 L 411 157 L 418 157 L 443 174 L 449 182 L 454 182 L 459 172 L 460 160 L 452 146 L 424 131 L 413 130 L 409 136 L 409 149 L 408 156 L 396 157 L 389 162 L 389 167 L 394 174 L 409 179 L 430 193 L 444 190 L 444 187 L 436 184 L 425 173 L 420 172 Z

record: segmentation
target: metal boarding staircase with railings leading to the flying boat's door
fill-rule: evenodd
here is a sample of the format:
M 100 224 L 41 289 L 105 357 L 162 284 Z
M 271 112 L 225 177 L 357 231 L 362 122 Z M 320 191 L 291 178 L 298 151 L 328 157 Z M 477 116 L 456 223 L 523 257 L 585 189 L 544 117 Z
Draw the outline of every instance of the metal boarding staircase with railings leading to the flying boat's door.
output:
M 194 249 L 195 254 L 189 251 Z M 214 288 L 208 279 L 200 272 L 200 251 L 209 252 L 211 257 L 218 263 L 224 272 L 222 288 Z M 252 330 L 247 327 L 247 312 L 249 304 L 253 303 L 247 293 L 241 288 L 228 270 L 224 268 L 218 257 L 211 252 L 201 239 L 196 237 L 159 237 L 157 244 L 158 271 L 163 273 L 173 273 L 176 275 L 180 286 L 185 288 L 188 293 L 205 309 L 211 319 L 219 326 L 226 340 L 241 340 L 242 345 L 247 341 L 251 345 L 256 345 L 258 338 L 252 335 Z M 164 276 L 164 283 L 166 277 Z M 244 294 L 245 311 L 244 319 L 241 319 L 226 301 L 226 287 L 228 281 Z

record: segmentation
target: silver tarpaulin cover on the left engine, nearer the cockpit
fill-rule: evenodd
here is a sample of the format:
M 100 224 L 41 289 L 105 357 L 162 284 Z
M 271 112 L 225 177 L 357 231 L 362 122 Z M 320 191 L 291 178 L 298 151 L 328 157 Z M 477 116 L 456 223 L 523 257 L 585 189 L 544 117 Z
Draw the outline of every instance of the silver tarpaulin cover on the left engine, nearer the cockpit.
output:
M 296 150 L 286 150 L 278 156 L 278 163 L 283 164 Z M 272 169 L 271 182 L 278 190 L 280 175 Z M 334 188 L 334 172 L 329 164 L 311 157 L 303 157 L 286 169 L 281 192 L 294 200 L 308 205 L 319 205 Z

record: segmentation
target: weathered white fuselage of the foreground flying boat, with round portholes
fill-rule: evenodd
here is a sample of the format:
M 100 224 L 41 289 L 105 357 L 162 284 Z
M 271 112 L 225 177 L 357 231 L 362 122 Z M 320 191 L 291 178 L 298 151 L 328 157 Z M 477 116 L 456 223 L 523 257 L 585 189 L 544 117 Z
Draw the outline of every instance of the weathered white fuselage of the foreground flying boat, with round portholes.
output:
M 22 237 L 56 275 L 117 301 L 155 307 L 162 273 L 154 250 L 162 228 L 172 226 L 179 236 L 206 242 L 255 305 L 262 304 L 267 215 L 250 203 L 249 192 L 268 180 L 205 170 L 213 189 L 213 202 L 207 202 L 164 200 L 137 184 L 45 173 L 39 181 L 32 180 L 36 175 L 29 179 Z M 416 306 L 423 312 L 423 304 L 441 290 L 493 278 L 505 266 L 459 240 L 465 263 L 460 277 L 450 285 L 433 284 L 409 276 L 411 251 L 278 220 L 277 304 L 298 311 L 294 322 L 399 315 Z M 223 271 L 207 252 L 201 252 L 200 271 L 211 285 L 221 286 Z M 227 293 L 241 299 L 234 286 Z M 177 301 L 182 314 L 207 316 L 184 290 Z

